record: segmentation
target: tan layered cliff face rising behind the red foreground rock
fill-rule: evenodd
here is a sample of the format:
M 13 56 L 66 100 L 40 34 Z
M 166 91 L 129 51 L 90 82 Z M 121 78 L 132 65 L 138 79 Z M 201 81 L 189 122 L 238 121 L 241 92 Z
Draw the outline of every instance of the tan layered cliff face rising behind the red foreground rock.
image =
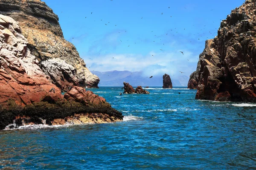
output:
M 19 23 L 22 34 L 28 40 L 31 53 L 42 63 L 43 71 L 61 90 L 67 91 L 71 85 L 78 84 L 83 87 L 98 88 L 99 77 L 86 68 L 75 46 L 64 39 L 58 16 L 44 2 L 0 0 L 0 14 L 12 17 Z M 60 62 L 65 68 L 61 67 Z M 50 68 L 58 70 L 61 78 L 56 77 L 56 74 L 49 70 Z M 64 70 L 73 75 L 67 75 Z

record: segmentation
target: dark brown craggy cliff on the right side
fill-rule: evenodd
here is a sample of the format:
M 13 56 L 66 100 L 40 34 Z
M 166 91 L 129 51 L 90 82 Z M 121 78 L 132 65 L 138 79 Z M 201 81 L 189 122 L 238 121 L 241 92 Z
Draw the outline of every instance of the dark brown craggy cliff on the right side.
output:
M 188 88 L 196 99 L 256 102 L 256 0 L 232 10 L 207 40 Z

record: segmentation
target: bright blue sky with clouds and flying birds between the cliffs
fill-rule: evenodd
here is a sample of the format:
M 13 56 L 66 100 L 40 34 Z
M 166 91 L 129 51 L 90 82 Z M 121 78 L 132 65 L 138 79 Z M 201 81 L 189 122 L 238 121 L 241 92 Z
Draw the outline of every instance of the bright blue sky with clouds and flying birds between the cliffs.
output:
M 190 76 L 205 41 L 244 0 L 43 0 L 90 71 Z M 183 54 L 180 52 L 182 51 Z M 180 73 L 179 71 L 183 72 Z

